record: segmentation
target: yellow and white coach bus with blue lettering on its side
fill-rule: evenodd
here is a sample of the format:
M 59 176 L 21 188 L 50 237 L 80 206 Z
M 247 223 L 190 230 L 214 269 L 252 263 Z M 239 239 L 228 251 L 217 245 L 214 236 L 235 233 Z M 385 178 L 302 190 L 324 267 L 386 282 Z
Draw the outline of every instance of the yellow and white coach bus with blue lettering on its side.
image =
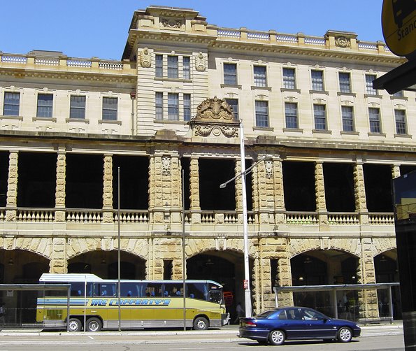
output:
M 71 285 L 70 297 L 52 290 L 40 292 L 36 321 L 45 329 L 100 331 L 119 327 L 118 280 L 94 274 L 44 273 L 41 284 Z M 208 329 L 227 324 L 222 285 L 211 280 L 120 280 L 120 328 L 186 327 Z M 69 308 L 68 308 L 69 303 Z M 68 312 L 69 311 L 69 312 Z

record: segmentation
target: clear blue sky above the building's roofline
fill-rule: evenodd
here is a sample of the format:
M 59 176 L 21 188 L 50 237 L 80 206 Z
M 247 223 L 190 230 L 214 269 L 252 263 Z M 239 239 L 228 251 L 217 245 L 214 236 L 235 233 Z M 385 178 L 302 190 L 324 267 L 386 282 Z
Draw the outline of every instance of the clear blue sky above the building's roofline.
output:
M 361 41 L 384 41 L 382 0 L 19 0 L 1 3 L 0 51 L 120 59 L 134 10 L 153 4 L 193 8 L 220 27 L 310 36 L 336 29 L 353 31 Z

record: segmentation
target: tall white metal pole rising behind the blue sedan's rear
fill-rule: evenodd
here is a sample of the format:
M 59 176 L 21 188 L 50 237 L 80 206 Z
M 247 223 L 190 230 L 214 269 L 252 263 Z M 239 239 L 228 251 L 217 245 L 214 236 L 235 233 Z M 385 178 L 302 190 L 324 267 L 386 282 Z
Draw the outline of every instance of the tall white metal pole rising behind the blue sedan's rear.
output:
M 245 317 L 252 316 L 250 292 L 250 266 L 248 262 L 248 225 L 247 225 L 247 192 L 245 190 L 245 152 L 243 120 L 240 121 L 240 154 L 241 154 L 241 194 L 243 195 L 243 237 L 244 237 L 244 298 Z

